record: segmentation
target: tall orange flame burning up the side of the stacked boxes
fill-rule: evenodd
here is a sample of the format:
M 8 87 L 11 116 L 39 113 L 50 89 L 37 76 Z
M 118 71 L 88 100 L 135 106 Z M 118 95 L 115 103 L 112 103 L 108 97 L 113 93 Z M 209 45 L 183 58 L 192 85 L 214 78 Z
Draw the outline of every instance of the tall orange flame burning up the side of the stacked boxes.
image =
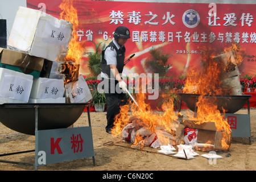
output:
M 62 12 L 60 18 L 73 24 L 72 39 L 69 43 L 69 49 L 63 64 L 63 74 L 66 75 L 65 82 L 77 81 L 79 77 L 79 65 L 84 52 L 82 44 L 77 41 L 77 30 L 79 27 L 79 19 L 77 16 L 77 10 L 73 7 L 72 0 L 63 0 L 59 6 Z

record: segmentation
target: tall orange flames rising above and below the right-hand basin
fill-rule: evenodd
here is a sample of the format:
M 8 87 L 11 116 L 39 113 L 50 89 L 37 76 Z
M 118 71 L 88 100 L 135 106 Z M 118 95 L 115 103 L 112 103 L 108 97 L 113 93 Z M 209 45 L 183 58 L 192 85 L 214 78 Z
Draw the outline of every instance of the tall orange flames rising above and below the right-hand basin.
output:
M 217 53 L 213 49 L 205 50 L 203 60 L 201 62 L 201 71 L 197 69 L 190 69 L 187 72 L 187 80 L 184 85 L 184 93 L 200 94 L 197 102 L 197 115 L 196 118 L 190 116 L 190 119 L 200 122 L 214 122 L 217 131 L 225 131 L 221 140 L 221 146 L 224 150 L 229 150 L 232 131 L 226 119 L 217 109 L 217 98 L 214 96 L 231 95 L 230 88 L 222 87 L 222 81 L 225 78 L 224 71 L 233 67 L 237 67 L 242 63 L 242 51 L 236 45 L 226 48 L 224 53 L 228 57 L 234 55 L 235 63 L 229 60 L 224 64 L 222 61 L 216 59 Z M 231 57 L 231 56 L 230 56 Z M 233 61 L 233 62 L 234 62 Z M 231 65 L 231 67 L 230 67 Z M 209 98 L 205 96 L 213 96 L 209 102 Z M 216 98 L 216 100 L 214 100 Z M 225 110 L 224 110 L 225 113 Z

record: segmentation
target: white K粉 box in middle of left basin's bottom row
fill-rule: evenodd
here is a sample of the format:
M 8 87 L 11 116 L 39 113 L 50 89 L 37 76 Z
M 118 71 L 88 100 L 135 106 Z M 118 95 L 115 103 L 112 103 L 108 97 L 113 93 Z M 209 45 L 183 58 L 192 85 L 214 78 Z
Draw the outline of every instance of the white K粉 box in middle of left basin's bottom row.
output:
M 52 78 L 34 78 L 30 98 L 46 99 L 64 96 L 64 81 Z

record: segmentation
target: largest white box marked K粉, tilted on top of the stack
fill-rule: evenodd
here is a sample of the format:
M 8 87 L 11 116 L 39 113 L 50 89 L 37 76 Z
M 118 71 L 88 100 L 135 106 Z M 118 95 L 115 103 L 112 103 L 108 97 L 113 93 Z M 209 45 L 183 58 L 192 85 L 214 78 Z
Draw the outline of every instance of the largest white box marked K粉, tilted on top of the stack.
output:
M 7 47 L 50 61 L 62 61 L 67 55 L 72 28 L 72 23 L 43 11 L 19 7 Z

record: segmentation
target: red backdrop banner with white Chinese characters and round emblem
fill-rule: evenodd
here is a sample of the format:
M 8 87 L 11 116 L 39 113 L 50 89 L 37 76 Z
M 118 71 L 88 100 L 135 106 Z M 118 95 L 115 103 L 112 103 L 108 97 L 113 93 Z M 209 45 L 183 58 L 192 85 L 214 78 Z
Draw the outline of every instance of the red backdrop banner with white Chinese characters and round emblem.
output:
M 27 7 L 46 11 L 60 18 L 62 0 L 27 0 Z M 246 56 L 240 66 L 242 75 L 254 75 L 256 70 L 256 5 L 214 3 L 149 3 L 112 1 L 74 1 L 79 16 L 77 41 L 84 44 L 85 52 L 94 51 L 93 42 L 113 39 L 118 26 L 131 32 L 127 41 L 127 59 L 135 56 L 125 66 L 124 73 L 145 73 L 143 65 L 151 48 L 163 48 L 170 54 L 172 68 L 167 76 L 178 77 L 196 65 L 200 67 L 202 48 L 224 48 L 238 43 Z M 80 73 L 87 75 L 87 56 L 82 56 Z

